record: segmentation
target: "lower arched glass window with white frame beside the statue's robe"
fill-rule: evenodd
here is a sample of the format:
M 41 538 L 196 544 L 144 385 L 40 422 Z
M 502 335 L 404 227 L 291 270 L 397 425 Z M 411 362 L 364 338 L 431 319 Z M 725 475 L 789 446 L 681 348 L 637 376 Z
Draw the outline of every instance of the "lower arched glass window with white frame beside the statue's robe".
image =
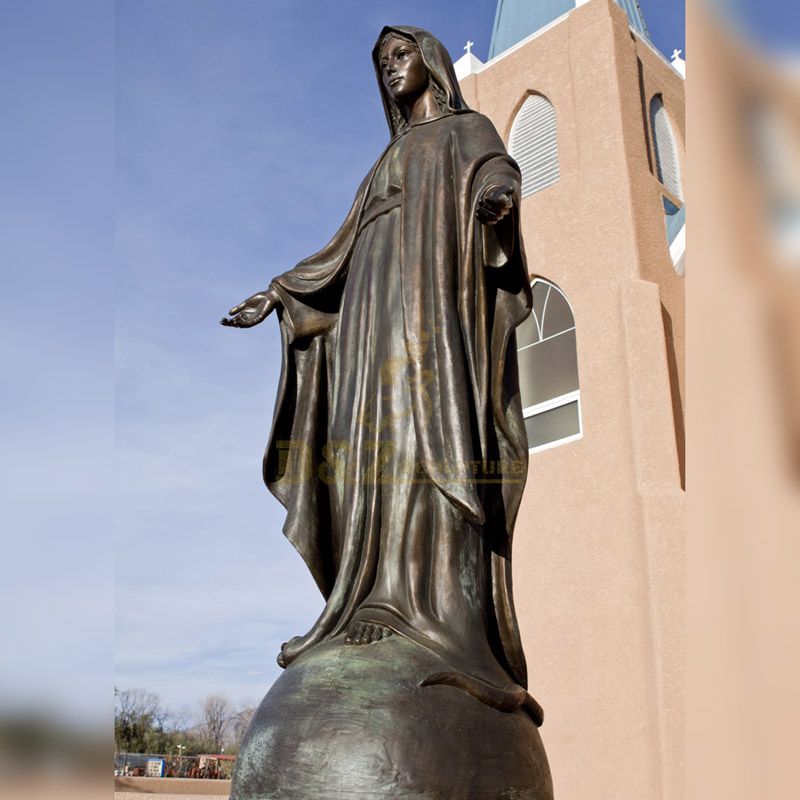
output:
M 517 328 L 517 358 L 525 429 L 531 452 L 583 435 L 575 317 L 550 281 L 532 283 L 533 311 Z

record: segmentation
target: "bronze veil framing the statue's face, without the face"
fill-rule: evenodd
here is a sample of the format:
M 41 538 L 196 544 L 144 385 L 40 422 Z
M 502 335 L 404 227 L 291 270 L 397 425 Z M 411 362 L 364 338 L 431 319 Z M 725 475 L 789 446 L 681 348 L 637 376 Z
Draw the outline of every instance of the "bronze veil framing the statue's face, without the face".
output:
M 372 62 L 375 65 L 375 74 L 378 78 L 383 108 L 386 112 L 389 129 L 392 132 L 392 138 L 406 131 L 408 123 L 403 116 L 400 105 L 383 85 L 381 75 L 381 43 L 384 37 L 391 33 L 396 33 L 403 39 L 410 39 L 417 45 L 431 78 L 441 90 L 439 94 L 446 98 L 446 108 L 442 109 L 445 113 L 460 114 L 470 110 L 461 95 L 461 87 L 458 85 L 458 78 L 456 78 L 456 72 L 453 68 L 453 60 L 450 58 L 447 48 L 433 34 L 422 30 L 422 28 L 413 28 L 407 25 L 387 25 L 380 32 L 378 41 L 372 49 Z

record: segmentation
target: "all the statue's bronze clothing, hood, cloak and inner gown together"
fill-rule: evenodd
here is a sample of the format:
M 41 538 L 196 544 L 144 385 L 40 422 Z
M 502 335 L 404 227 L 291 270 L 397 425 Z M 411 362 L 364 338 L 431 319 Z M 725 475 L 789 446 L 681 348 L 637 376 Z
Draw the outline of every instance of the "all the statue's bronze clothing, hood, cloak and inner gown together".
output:
M 447 113 L 402 130 L 394 126 L 392 142 L 330 243 L 272 284 L 281 300 L 283 370 L 264 479 L 287 509 L 285 535 L 326 599 L 311 631 L 284 645 L 281 658 L 287 666 L 315 644 L 343 635 L 354 619 L 376 622 L 440 657 L 442 670 L 431 682 L 460 685 L 504 707 L 503 691 L 513 687 L 519 698 L 527 685 L 511 541 L 527 472 L 514 329 L 529 313 L 531 295 L 518 209 L 493 226 L 481 224 L 476 210 L 492 186 L 513 186 L 518 197 L 519 171 L 489 120 L 466 108 L 441 45 L 417 29 L 400 30 L 415 38 L 432 76 L 447 89 Z M 384 94 L 391 126 L 390 102 Z M 397 196 L 380 197 L 377 184 L 385 183 L 392 158 Z M 381 209 L 387 199 L 388 210 Z M 385 283 L 359 288 L 358 281 L 371 285 L 370 271 L 380 270 L 377 278 Z M 364 296 L 367 291 L 378 294 Z M 391 306 L 364 327 L 359 319 L 384 292 L 393 297 Z M 353 323 L 356 307 L 361 317 Z M 390 409 L 388 427 L 376 434 L 365 420 L 378 406 L 367 407 L 363 392 L 348 394 L 343 374 L 378 376 L 371 391 L 381 391 L 383 362 L 392 355 L 381 350 L 384 340 L 404 350 L 389 381 L 395 381 L 390 394 L 400 398 L 390 402 L 406 413 L 398 425 L 391 419 L 398 409 Z M 378 459 L 380 469 L 373 469 L 376 442 L 380 449 L 384 440 L 413 464 Z M 386 507 L 354 513 L 370 502 Z M 408 508 L 398 511 L 402 504 Z M 405 550 L 397 546 L 404 537 L 411 542 Z M 448 554 L 440 557 L 427 537 Z M 381 562 L 387 553 L 430 560 L 427 573 L 425 564 L 415 567 L 424 580 L 403 578 L 408 565 Z M 390 578 L 400 575 L 403 597 L 370 603 L 387 569 Z M 465 574 L 470 569 L 472 576 Z M 436 595 L 438 583 L 446 588 Z M 382 596 L 391 594 L 383 584 Z M 436 607 L 421 616 L 404 610 L 430 606 L 429 597 L 414 596 L 423 591 L 436 595 Z

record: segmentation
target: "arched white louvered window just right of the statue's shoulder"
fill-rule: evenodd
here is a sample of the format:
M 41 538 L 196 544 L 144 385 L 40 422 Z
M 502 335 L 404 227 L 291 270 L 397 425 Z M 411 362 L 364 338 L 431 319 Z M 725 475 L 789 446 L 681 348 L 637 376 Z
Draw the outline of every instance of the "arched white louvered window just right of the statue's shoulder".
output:
M 560 177 L 556 111 L 546 97 L 532 94 L 511 126 L 508 145 L 522 172 L 522 196 L 539 192 Z

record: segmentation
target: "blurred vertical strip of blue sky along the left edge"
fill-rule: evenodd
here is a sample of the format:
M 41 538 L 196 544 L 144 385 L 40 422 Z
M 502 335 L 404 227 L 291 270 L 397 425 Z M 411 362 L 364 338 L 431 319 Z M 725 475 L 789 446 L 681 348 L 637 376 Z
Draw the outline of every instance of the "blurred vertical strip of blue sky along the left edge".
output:
M 103 713 L 113 666 L 113 6 L 0 25 L 0 710 Z

